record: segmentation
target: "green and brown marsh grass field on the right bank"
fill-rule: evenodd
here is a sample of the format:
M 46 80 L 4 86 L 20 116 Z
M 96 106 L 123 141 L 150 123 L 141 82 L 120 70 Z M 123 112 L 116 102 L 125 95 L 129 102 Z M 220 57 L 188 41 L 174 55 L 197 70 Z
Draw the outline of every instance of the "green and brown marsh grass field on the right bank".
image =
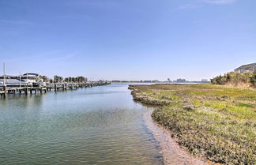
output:
M 256 90 L 213 84 L 130 85 L 179 145 L 215 163 L 256 164 Z

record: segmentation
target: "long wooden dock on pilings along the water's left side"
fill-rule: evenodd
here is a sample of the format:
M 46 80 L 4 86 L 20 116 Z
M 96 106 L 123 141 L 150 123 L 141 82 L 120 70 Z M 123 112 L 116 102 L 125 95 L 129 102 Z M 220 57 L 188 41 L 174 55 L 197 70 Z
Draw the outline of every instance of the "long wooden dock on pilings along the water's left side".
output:
M 32 86 L 17 86 L 11 84 L 0 84 L 0 96 L 5 98 L 9 94 L 16 94 L 16 93 L 24 93 L 25 95 L 32 94 L 32 93 L 46 93 L 47 91 L 54 90 L 57 91 L 66 91 L 68 89 L 73 90 L 77 88 L 88 88 L 88 87 L 95 87 L 100 85 L 107 85 L 111 84 L 107 81 L 99 81 L 99 82 L 87 82 L 87 83 L 51 83 L 47 84 L 46 86 L 42 87 L 32 87 Z

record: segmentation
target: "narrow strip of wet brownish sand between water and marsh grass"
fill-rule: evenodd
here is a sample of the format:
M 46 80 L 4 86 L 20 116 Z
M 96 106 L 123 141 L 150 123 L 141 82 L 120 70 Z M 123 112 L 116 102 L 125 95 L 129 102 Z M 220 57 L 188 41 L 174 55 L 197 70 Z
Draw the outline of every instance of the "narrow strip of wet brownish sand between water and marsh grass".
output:
M 159 126 L 156 122 L 152 121 L 152 111 L 144 114 L 145 124 L 152 131 L 156 141 L 160 142 L 160 154 L 164 157 L 164 164 L 171 165 L 206 165 L 203 159 L 191 156 L 189 152 L 186 152 L 183 148 L 179 147 L 174 139 L 171 138 L 171 134 L 168 129 L 164 129 L 163 126 Z

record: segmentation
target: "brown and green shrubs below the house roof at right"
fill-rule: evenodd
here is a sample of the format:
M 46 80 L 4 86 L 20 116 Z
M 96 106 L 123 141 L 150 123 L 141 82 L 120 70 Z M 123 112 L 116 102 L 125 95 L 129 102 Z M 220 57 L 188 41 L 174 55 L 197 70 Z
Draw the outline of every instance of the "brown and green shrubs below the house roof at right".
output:
M 212 84 L 226 84 L 236 87 L 256 87 L 256 72 L 225 73 L 211 79 Z

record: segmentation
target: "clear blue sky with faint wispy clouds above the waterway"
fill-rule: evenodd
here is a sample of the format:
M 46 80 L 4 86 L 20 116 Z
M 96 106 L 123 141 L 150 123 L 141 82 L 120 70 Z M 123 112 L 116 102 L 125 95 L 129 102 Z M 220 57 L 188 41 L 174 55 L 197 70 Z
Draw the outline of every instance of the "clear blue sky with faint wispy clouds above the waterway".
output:
M 209 79 L 256 62 L 256 1 L 1 0 L 0 62 L 8 74 Z

